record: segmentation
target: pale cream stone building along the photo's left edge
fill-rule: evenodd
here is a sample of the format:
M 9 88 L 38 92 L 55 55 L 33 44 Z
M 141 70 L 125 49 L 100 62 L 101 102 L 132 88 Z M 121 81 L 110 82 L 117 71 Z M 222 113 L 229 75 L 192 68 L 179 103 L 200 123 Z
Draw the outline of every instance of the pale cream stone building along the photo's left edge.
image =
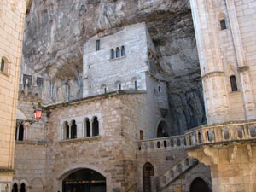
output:
M 24 20 L 28 4 L 25 0 L 0 3 L 0 191 L 10 190 L 15 172 L 15 114 Z

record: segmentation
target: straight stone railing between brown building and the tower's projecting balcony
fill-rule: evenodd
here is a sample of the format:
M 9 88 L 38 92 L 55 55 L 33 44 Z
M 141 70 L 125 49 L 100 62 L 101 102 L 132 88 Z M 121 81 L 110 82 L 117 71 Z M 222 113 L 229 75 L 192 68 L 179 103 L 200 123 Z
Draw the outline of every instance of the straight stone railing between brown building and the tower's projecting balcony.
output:
M 137 143 L 137 153 L 150 152 L 153 150 L 167 148 L 185 148 L 186 141 L 184 136 L 161 137 L 148 140 L 142 140 Z

